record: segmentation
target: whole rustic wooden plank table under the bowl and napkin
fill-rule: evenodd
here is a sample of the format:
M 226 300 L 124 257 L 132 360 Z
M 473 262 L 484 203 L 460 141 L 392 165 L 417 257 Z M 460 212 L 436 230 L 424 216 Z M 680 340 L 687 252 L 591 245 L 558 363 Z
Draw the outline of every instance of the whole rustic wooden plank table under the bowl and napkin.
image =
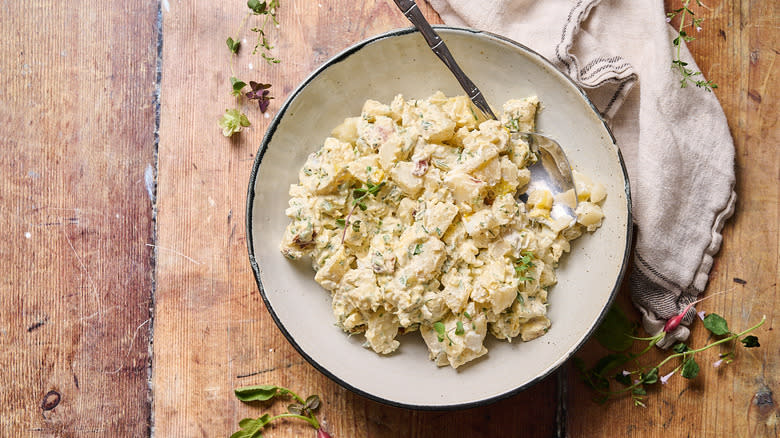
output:
M 231 140 L 216 125 L 234 104 L 225 38 L 244 0 L 0 2 L 0 436 L 228 436 L 262 411 L 233 397 L 255 383 L 320 394 L 334 437 L 778 436 L 772 3 L 708 2 L 690 46 L 720 84 L 737 148 L 739 203 L 708 291 L 746 282 L 702 308 L 734 327 L 766 314 L 762 347 L 652 390 L 645 409 L 625 399 L 593 403 L 570 370 L 564 400 L 552 376 L 491 406 L 415 412 L 321 375 L 257 292 L 244 209 L 269 119 L 251 111 L 253 126 Z M 281 63 L 252 61 L 252 75 L 273 84 L 271 113 L 329 57 L 408 26 L 387 0 L 282 1 L 279 18 L 270 36 Z M 247 64 L 236 68 L 248 73 Z M 696 325 L 693 342 L 706 338 Z M 581 354 L 600 353 L 590 342 Z M 313 433 L 291 422 L 267 436 Z

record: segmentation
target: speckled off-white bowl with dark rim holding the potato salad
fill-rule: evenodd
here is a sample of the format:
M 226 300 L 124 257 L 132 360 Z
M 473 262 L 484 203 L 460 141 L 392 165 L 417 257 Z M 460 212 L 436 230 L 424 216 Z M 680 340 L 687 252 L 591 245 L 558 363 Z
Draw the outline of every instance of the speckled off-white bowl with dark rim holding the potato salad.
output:
M 604 121 L 567 76 L 522 45 L 485 32 L 438 27 L 455 58 L 488 101 L 537 95 L 538 130 L 560 141 L 578 169 L 605 184 L 606 219 L 575 241 L 549 296 L 552 327 L 531 342 L 486 341 L 489 353 L 459 370 L 428 359 L 419 333 L 400 336 L 395 354 L 380 356 L 334 325 L 330 294 L 314 282 L 307 260 L 279 252 L 288 223 L 287 190 L 330 130 L 359 115 L 366 99 L 398 93 L 425 98 L 436 90 L 463 94 L 456 80 L 412 29 L 361 42 L 316 70 L 284 103 L 268 128 L 249 181 L 247 242 L 260 293 L 279 329 L 322 373 L 380 402 L 414 409 L 451 409 L 507 397 L 550 374 L 598 325 L 620 286 L 631 240 L 631 202 L 623 159 Z

